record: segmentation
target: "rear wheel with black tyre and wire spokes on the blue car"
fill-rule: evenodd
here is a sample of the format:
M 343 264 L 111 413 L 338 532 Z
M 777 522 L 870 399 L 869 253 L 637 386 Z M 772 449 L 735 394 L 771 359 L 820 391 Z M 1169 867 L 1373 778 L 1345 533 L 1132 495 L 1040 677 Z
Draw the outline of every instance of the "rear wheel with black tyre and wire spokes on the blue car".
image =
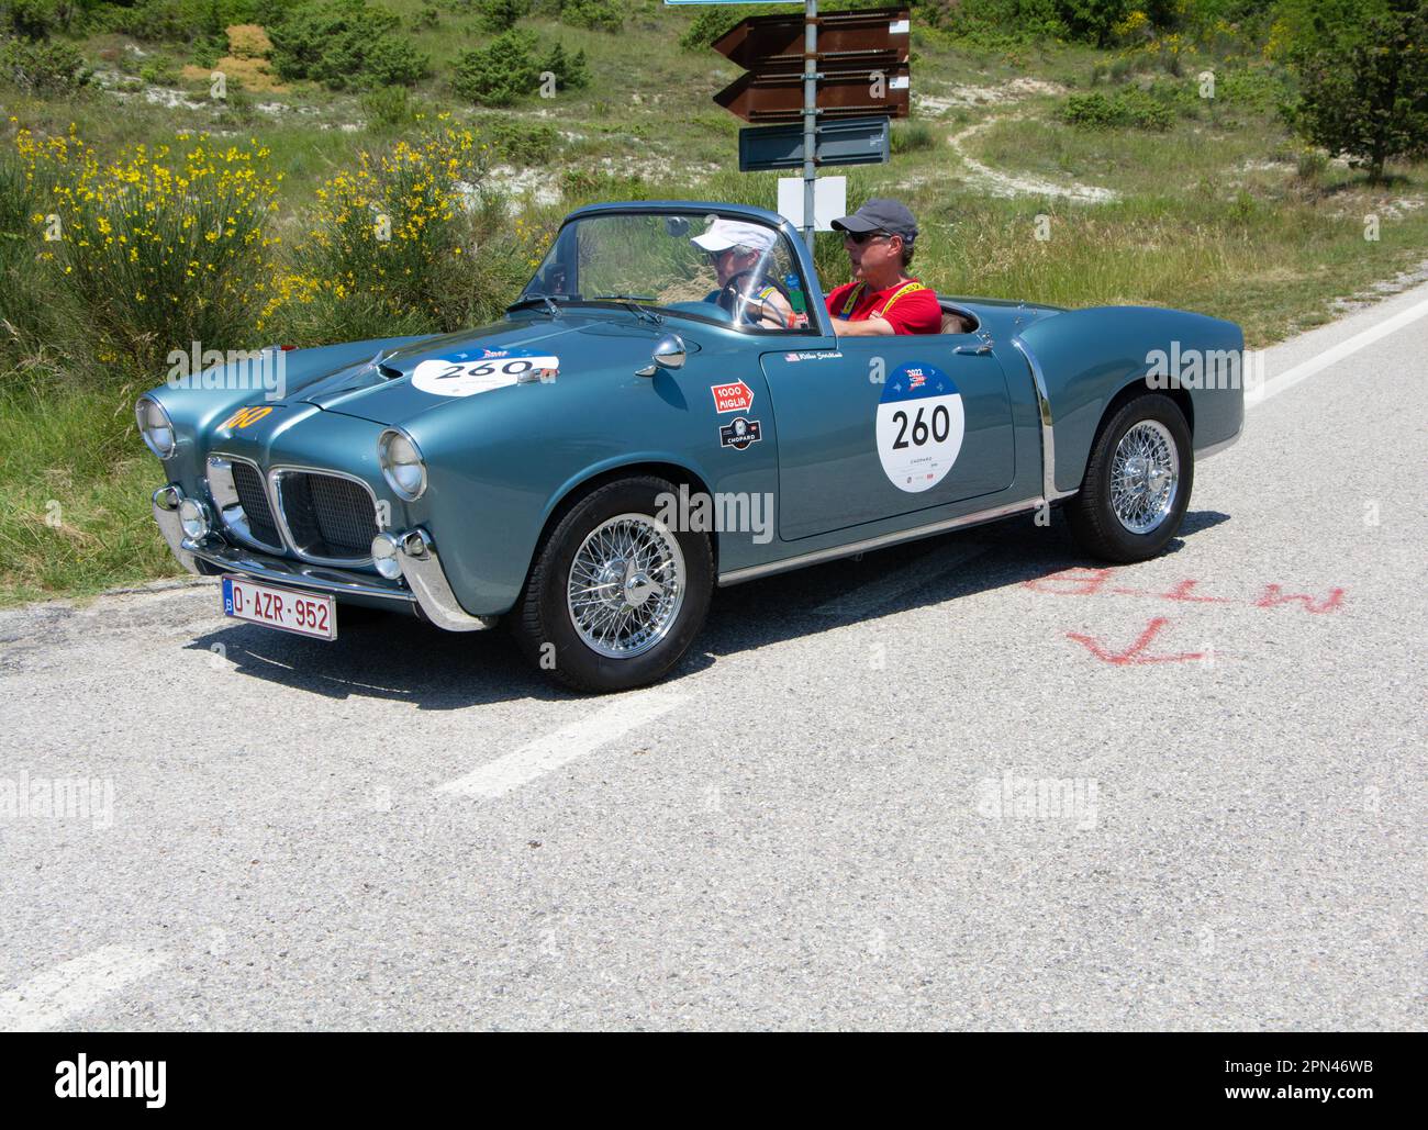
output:
M 1152 558 L 1180 529 L 1194 481 L 1184 412 L 1157 392 L 1135 397 L 1091 445 L 1081 491 L 1065 504 L 1071 535 L 1104 561 Z

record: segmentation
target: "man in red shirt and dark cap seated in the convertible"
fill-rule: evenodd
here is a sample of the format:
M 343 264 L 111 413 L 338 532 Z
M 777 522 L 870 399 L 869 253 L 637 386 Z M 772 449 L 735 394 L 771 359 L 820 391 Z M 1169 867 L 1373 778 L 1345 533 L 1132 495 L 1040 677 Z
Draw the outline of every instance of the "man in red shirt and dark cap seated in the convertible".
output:
M 838 337 L 938 334 L 942 308 L 937 291 L 907 273 L 917 220 L 895 200 L 874 198 L 853 215 L 833 221 L 853 265 L 853 281 L 828 295 Z

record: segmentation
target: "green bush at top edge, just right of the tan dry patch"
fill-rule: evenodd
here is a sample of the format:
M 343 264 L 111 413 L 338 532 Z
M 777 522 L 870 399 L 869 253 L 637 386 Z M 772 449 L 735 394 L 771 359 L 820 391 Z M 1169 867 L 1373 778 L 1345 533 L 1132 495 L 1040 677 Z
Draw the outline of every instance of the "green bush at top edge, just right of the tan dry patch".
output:
M 430 58 L 394 36 L 398 19 L 366 0 L 306 3 L 270 29 L 273 66 L 283 78 L 310 78 L 330 90 L 410 86 Z

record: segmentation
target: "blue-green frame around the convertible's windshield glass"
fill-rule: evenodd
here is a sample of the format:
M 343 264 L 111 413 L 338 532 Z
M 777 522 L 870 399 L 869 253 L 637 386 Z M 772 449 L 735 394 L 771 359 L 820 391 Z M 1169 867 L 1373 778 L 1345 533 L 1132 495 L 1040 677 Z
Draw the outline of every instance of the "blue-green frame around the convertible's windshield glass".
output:
M 705 317 L 703 314 L 695 314 L 690 310 L 675 310 L 673 307 L 660 305 L 658 302 L 641 302 L 641 305 L 660 315 L 661 318 L 687 318 L 690 321 L 697 321 L 704 325 L 718 327 L 721 330 L 733 330 L 737 334 L 745 334 L 753 338 L 767 338 L 767 340 L 788 340 L 788 338 L 808 338 L 808 337 L 833 337 L 833 322 L 828 318 L 827 305 L 823 297 L 823 287 L 818 282 L 818 275 L 813 270 L 811 255 L 808 254 L 808 245 L 798 235 L 797 228 L 790 224 L 784 217 L 774 213 L 765 211 L 763 208 L 753 208 L 740 204 L 715 204 L 704 201 L 688 201 L 688 200 L 641 200 L 641 201 L 623 201 L 623 203 L 608 203 L 608 204 L 587 204 L 583 208 L 575 208 L 570 213 L 555 233 L 555 238 L 551 241 L 550 250 L 541 260 L 536 273 L 531 275 L 530 281 L 521 288 L 517 302 L 527 298 L 538 298 L 543 291 L 533 290 L 541 270 L 550 263 L 551 255 L 560 247 L 561 240 L 565 237 L 567 228 L 583 220 L 594 220 L 600 217 L 614 217 L 614 215 L 680 215 L 691 220 L 703 220 L 708 215 L 718 215 L 728 220 L 738 220 L 741 223 L 754 223 L 761 227 L 773 230 L 778 237 L 784 238 L 788 244 L 794 270 L 797 270 L 800 282 L 803 285 L 803 292 L 807 301 L 808 325 L 797 328 L 785 327 L 765 327 L 765 325 L 743 325 L 733 321 L 725 321 L 721 318 Z M 578 284 L 578 280 L 577 280 Z M 578 285 L 575 288 L 578 291 Z M 630 312 L 630 302 L 624 300 L 610 300 L 610 298 L 573 298 L 568 295 L 551 295 L 554 297 L 557 305 L 561 310 L 568 308 L 585 308 L 594 307 L 597 310 L 620 310 Z M 513 304 L 514 305 L 514 304 Z

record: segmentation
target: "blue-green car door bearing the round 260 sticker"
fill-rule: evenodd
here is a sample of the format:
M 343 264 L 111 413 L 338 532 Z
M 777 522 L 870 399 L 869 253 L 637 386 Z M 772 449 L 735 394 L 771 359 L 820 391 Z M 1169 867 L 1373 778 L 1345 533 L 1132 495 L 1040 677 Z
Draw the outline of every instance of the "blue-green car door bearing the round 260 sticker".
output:
M 838 338 L 765 354 L 778 532 L 857 526 L 1011 485 L 1007 377 L 974 334 Z

